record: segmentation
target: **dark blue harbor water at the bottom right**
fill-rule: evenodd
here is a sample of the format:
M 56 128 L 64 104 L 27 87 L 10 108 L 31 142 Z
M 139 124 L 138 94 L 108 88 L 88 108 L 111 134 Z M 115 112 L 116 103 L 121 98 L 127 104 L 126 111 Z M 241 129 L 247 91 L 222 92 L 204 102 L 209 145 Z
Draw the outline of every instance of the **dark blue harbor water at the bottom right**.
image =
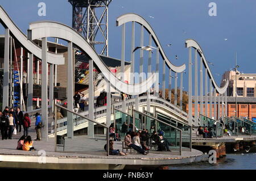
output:
M 205 154 L 200 162 L 170 165 L 169 170 L 256 170 L 256 153 L 226 154 L 217 160 L 216 164 L 208 162 Z

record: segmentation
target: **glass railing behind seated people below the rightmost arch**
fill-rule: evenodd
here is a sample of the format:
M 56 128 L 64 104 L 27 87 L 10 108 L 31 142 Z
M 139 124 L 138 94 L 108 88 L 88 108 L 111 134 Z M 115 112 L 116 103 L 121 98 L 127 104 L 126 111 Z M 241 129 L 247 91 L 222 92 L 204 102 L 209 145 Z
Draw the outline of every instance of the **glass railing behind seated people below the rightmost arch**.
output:
M 208 127 L 212 129 L 212 136 L 214 137 L 222 137 L 223 136 L 223 128 L 224 125 L 222 123 L 220 123 L 220 120 L 216 121 L 213 119 L 210 119 L 210 117 L 204 116 L 200 114 L 200 126 L 201 127 Z

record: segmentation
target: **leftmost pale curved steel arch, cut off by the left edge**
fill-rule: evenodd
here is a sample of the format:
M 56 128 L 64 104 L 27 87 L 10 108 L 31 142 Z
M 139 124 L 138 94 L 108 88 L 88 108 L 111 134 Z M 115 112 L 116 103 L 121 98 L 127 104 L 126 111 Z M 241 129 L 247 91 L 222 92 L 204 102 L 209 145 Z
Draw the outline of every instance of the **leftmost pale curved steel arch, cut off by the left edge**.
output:
M 20 42 L 20 44 L 23 45 L 24 48 L 33 53 L 39 59 L 42 59 L 42 48 L 38 47 L 38 45 L 36 45 L 34 42 L 27 39 L 27 36 L 15 25 L 2 6 L 0 6 L 0 23 L 5 28 L 9 28 L 10 32 L 13 33 L 14 37 Z M 65 64 L 63 54 L 48 52 L 47 57 L 47 62 L 49 64 Z

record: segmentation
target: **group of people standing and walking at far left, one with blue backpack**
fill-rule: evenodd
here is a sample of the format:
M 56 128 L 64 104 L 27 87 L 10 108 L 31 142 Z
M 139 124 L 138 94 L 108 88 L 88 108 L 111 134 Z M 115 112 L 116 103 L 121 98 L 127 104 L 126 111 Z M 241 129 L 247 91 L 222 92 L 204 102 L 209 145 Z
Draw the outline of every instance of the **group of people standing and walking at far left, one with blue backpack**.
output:
M 41 140 L 41 128 L 43 127 L 39 113 L 36 113 L 36 140 Z M 23 136 L 28 136 L 28 130 L 31 127 L 31 119 L 28 113 L 24 113 L 18 107 L 16 111 L 14 108 L 5 107 L 5 110 L 0 111 L 0 129 L 2 140 L 7 138 L 12 139 L 13 133 L 21 132 L 23 127 Z

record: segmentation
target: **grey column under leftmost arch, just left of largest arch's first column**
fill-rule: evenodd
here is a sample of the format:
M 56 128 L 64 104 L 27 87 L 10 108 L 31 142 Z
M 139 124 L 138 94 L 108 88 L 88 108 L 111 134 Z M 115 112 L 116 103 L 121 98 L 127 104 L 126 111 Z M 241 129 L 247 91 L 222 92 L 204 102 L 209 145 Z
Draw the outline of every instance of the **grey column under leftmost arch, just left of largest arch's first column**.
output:
M 28 69 L 28 91 L 27 91 L 27 111 L 33 110 L 33 60 L 34 55 L 30 53 Z

